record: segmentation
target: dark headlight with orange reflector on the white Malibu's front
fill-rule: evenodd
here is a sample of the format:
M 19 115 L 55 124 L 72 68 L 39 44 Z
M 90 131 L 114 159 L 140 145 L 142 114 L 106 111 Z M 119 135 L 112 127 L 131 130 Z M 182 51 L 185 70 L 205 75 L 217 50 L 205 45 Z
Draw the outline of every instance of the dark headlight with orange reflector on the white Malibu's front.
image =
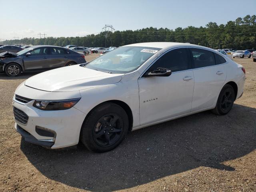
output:
M 72 108 L 80 98 L 69 100 L 35 101 L 33 106 L 41 110 L 64 110 Z

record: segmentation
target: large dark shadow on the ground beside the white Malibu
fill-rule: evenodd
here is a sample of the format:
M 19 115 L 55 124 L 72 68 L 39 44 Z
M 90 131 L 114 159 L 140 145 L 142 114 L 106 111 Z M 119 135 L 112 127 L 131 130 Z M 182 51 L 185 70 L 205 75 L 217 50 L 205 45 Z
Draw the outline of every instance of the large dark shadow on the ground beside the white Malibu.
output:
M 234 171 L 223 162 L 256 148 L 255 120 L 255 108 L 234 104 L 226 116 L 206 111 L 130 132 L 118 148 L 102 154 L 82 146 L 48 150 L 23 140 L 20 148 L 52 180 L 91 191 L 113 191 L 199 166 Z

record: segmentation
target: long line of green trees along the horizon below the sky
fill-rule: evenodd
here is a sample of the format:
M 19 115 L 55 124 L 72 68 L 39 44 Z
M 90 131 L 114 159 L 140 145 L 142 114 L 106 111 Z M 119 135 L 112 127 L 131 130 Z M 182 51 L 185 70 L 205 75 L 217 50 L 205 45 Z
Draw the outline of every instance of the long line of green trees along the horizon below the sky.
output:
M 256 48 L 256 15 L 246 15 L 244 18 L 239 17 L 235 21 L 220 25 L 216 22 L 209 22 L 205 27 L 188 26 L 178 27 L 175 30 L 150 27 L 113 33 L 107 31 L 83 37 L 23 38 L 2 41 L 1 44 L 118 47 L 140 42 L 189 42 L 214 49 Z

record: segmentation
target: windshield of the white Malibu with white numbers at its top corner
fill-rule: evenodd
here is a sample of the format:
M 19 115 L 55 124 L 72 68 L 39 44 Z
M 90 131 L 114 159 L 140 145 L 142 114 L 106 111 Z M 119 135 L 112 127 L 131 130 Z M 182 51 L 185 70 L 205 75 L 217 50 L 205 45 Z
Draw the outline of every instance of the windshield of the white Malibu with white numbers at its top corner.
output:
M 129 73 L 139 68 L 160 48 L 125 46 L 114 49 L 86 64 L 86 68 L 111 72 Z

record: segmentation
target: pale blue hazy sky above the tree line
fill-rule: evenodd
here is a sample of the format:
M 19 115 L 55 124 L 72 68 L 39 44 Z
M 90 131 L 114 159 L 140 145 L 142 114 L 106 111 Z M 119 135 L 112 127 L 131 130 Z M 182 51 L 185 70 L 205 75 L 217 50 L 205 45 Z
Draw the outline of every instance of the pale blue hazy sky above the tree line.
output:
M 246 2 L 246 3 L 245 3 Z M 226 24 L 256 14 L 256 0 L 0 0 L 1 39 Z

